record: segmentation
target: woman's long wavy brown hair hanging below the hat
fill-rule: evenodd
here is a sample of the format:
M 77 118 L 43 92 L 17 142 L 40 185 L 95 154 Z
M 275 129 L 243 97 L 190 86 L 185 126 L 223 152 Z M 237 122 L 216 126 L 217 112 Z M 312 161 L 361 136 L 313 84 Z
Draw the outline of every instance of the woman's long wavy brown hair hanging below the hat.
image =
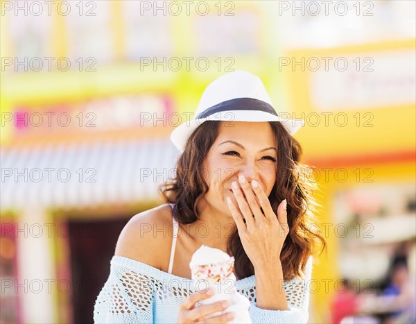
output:
M 208 185 L 202 170 L 212 144 L 218 137 L 221 121 L 201 123 L 187 141 L 184 152 L 176 163 L 175 178 L 159 185 L 159 194 L 166 203 L 175 203 L 175 218 L 179 223 L 189 224 L 198 219 L 196 206 L 207 193 Z M 289 233 L 284 241 L 280 259 L 284 280 L 302 276 L 309 255 L 315 255 L 317 246 L 326 248 L 325 240 L 317 232 L 314 213 L 318 212 L 318 203 L 313 197 L 318 189 L 307 175 L 311 169 L 300 163 L 302 148 L 281 123 L 270 121 L 277 142 L 276 182 L 268 196 L 272 209 L 277 214 L 279 203 L 286 198 Z M 320 243 L 320 244 L 319 244 Z M 254 266 L 245 254 L 239 232 L 234 231 L 227 242 L 227 252 L 234 256 L 234 270 L 238 278 L 247 278 L 254 274 Z

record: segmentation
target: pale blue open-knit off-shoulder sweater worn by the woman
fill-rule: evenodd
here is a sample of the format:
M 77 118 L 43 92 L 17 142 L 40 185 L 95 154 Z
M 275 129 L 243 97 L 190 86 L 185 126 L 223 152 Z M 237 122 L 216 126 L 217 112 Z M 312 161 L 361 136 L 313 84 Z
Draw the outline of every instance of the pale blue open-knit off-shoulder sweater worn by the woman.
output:
M 309 257 L 304 278 L 295 277 L 284 283 L 287 311 L 257 307 L 254 275 L 237 280 L 236 291 L 251 302 L 252 323 L 306 323 L 311 271 Z M 110 276 L 96 299 L 94 323 L 176 323 L 180 303 L 193 291 L 190 279 L 114 255 Z

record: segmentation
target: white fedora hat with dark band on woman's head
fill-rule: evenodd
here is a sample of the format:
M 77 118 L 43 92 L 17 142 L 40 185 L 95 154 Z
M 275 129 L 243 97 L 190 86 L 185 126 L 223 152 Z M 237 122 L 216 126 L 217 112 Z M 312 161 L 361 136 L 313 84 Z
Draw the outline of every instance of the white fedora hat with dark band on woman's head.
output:
M 260 78 L 241 70 L 220 76 L 208 85 L 195 117 L 177 126 L 171 141 L 183 152 L 193 131 L 205 121 L 279 121 L 290 135 L 304 126 L 303 119 L 280 118 Z

